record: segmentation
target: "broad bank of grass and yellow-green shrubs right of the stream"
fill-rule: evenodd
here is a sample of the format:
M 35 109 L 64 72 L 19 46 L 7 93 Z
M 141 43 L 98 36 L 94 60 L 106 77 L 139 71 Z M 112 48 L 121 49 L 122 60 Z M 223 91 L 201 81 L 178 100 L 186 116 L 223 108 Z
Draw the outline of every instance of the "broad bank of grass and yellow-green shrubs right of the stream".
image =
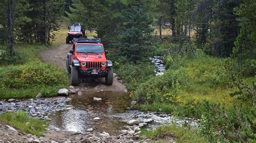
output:
M 166 54 L 167 70 L 163 76 L 156 77 L 149 74 L 150 72 L 142 74 L 142 71 L 146 70 L 145 67 L 148 67 L 146 64 L 143 68 L 133 68 L 129 74 L 119 69 L 118 75 L 127 87 L 130 87 L 131 96 L 140 103 L 140 110 L 200 119 L 200 134 L 197 135 L 203 138 L 202 142 L 205 139 L 251 141 L 255 127 L 253 82 L 255 83 L 256 78 L 240 76 L 231 62 L 232 59 L 214 58 L 204 54 L 176 57 L 173 54 Z M 125 67 L 127 69 L 136 66 L 131 64 Z M 150 71 L 149 69 L 146 71 Z M 126 76 L 132 73 L 133 76 Z M 169 132 L 174 129 L 185 130 L 173 126 L 161 127 L 159 131 L 145 131 L 143 134 L 156 136 L 154 134 L 157 132 Z M 220 134 L 216 134 L 218 131 L 221 131 Z M 186 132 L 196 133 L 193 130 Z M 174 134 L 178 138 L 186 137 L 186 134 L 179 135 L 179 132 Z M 185 140 L 195 141 L 193 138 Z

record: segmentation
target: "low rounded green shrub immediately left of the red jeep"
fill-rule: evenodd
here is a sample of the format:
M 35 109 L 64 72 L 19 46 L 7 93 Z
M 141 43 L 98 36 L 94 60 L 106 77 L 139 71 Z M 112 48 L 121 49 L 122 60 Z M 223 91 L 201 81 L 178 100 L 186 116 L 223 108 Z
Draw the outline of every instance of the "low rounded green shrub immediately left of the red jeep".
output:
M 1 88 L 42 88 L 68 85 L 68 81 L 64 70 L 40 61 L 0 68 Z

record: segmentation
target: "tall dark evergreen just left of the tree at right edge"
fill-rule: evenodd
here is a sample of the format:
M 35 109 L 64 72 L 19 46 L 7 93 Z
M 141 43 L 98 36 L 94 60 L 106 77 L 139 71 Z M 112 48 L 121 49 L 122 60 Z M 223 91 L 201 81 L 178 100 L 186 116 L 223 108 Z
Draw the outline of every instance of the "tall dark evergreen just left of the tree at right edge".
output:
M 230 56 L 238 35 L 238 21 L 233 9 L 239 6 L 237 0 L 215 1 L 210 19 L 211 32 L 208 34 L 210 49 L 206 52 L 216 56 Z

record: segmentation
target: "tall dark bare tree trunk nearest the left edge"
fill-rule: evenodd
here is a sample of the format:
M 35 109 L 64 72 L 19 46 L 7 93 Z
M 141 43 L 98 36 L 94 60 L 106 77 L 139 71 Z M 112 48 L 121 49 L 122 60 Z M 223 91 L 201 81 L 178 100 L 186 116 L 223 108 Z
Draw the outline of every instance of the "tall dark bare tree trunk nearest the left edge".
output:
M 13 24 L 14 23 L 14 9 L 12 0 L 8 0 L 8 34 L 9 34 L 9 52 L 11 56 L 15 56 L 14 48 L 14 35 L 13 35 Z

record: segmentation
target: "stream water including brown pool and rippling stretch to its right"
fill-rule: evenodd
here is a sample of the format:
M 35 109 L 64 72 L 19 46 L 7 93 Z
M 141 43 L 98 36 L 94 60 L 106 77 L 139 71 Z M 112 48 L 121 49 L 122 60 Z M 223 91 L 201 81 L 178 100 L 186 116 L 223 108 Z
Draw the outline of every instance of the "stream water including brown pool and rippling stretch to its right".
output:
M 102 101 L 93 101 L 93 97 L 102 98 Z M 131 99 L 129 94 L 112 91 L 83 91 L 71 96 L 68 104 L 72 109 L 58 111 L 51 115 L 51 125 L 62 130 L 74 132 L 86 132 L 87 128 L 95 131 L 107 132 L 110 135 L 118 134 L 120 130 L 129 130 L 126 122 L 132 119 L 140 121 L 140 125 L 146 128 L 156 128 L 163 124 L 176 123 L 182 125 L 185 122 L 191 126 L 197 126 L 197 120 L 177 119 L 172 115 L 156 112 L 141 112 L 130 110 Z M 99 117 L 99 120 L 93 118 Z

